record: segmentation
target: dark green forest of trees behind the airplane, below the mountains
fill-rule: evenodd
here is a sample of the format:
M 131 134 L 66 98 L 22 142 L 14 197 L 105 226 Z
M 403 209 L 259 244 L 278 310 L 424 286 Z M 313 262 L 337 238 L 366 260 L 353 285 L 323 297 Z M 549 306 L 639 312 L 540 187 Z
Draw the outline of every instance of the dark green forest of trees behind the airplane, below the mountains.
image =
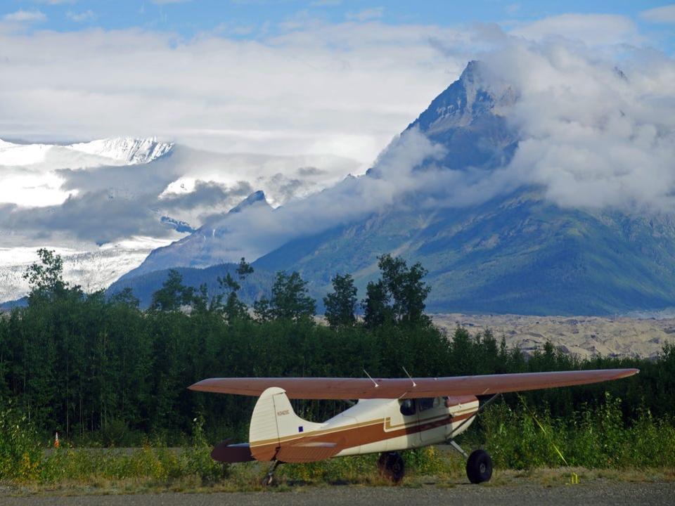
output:
M 251 308 L 238 290 L 252 268 L 219 278 L 217 297 L 186 287 L 176 271 L 155 292 L 147 311 L 130 290 L 106 298 L 85 294 L 62 278 L 60 258 L 39 251 L 28 268 L 28 306 L 0 315 L 0 404 L 20 410 L 41 434 L 73 441 L 180 442 L 197 416 L 214 441 L 243 436 L 255 399 L 187 390 L 206 377 L 449 376 L 638 367 L 626 380 L 541 391 L 525 396 L 556 415 L 622 398 L 625 420 L 638 410 L 667 416 L 675 406 L 675 349 L 660 359 L 579 361 L 547 345 L 526 359 L 491 332 L 449 337 L 425 315 L 425 269 L 385 255 L 380 278 L 359 301 L 349 274 L 336 274 L 323 299 L 326 322 L 299 273 L 279 272 L 269 297 Z M 362 318 L 356 315 L 362 314 Z M 449 392 L 450 394 L 450 392 Z M 515 398 L 510 398 L 515 402 Z M 330 417 L 340 401 L 296 402 L 305 417 Z

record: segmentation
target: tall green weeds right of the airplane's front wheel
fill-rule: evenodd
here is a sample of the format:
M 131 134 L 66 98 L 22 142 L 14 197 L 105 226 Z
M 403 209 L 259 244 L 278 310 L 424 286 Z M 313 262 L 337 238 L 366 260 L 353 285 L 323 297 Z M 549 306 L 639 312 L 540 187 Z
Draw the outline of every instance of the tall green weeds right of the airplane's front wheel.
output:
M 655 420 L 638 410 L 623 421 L 621 400 L 605 394 L 605 403 L 586 406 L 567 418 L 553 419 L 546 407 L 518 409 L 506 403 L 482 417 L 482 439 L 498 467 L 526 469 L 560 465 L 589 468 L 675 468 L 674 420 Z

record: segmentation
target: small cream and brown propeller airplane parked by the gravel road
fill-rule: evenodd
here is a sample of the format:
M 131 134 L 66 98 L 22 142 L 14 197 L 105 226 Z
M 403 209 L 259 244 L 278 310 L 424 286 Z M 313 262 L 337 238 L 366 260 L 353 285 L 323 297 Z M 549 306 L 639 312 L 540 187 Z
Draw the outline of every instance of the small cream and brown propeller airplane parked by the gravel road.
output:
M 282 462 L 364 453 L 380 453 L 380 473 L 398 483 L 405 472 L 400 450 L 439 443 L 449 443 L 464 456 L 469 481 L 479 484 L 492 476 L 489 454 L 475 450 L 468 455 L 455 438 L 499 394 L 618 380 L 638 372 L 600 369 L 375 380 L 366 372 L 367 378 L 210 378 L 188 388 L 258 396 L 249 442 L 223 441 L 211 456 L 219 462 L 272 462 L 265 485 L 273 483 L 274 470 Z M 480 404 L 479 397 L 487 399 Z M 326 422 L 309 422 L 295 414 L 292 398 L 341 399 L 352 406 Z

